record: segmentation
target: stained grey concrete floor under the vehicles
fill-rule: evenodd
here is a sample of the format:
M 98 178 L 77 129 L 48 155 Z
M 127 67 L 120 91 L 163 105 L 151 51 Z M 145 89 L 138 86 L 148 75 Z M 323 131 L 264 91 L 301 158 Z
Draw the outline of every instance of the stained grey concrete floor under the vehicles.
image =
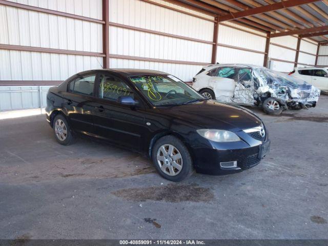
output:
M 44 115 L 0 120 L 0 238 L 327 239 L 328 96 L 281 116 L 253 110 L 271 153 L 182 183 L 126 150 L 60 146 Z

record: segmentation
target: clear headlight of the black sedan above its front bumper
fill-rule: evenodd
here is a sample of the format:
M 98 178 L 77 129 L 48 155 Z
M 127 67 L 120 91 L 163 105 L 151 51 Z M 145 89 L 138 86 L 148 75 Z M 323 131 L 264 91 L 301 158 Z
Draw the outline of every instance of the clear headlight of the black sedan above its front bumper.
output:
M 215 129 L 199 129 L 198 134 L 215 142 L 235 142 L 240 138 L 233 132 Z

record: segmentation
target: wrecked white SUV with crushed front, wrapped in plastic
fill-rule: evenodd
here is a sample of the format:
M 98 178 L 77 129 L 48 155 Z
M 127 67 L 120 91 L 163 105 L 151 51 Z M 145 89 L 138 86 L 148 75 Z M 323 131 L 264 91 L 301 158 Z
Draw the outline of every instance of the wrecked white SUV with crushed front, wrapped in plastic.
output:
M 243 64 L 203 67 L 192 87 L 204 97 L 227 103 L 259 106 L 268 114 L 315 107 L 320 90 L 304 80 L 270 69 Z

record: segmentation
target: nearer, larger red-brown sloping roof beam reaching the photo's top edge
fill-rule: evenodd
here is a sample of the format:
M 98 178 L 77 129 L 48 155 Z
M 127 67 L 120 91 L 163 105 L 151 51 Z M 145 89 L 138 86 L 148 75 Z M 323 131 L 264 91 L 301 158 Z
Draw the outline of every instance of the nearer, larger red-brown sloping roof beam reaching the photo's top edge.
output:
M 226 20 L 232 20 L 232 19 L 238 19 L 238 18 L 243 18 L 255 14 L 261 14 L 261 13 L 266 13 L 270 11 L 275 11 L 279 9 L 284 9 L 284 8 L 291 8 L 295 6 L 299 6 L 302 4 L 309 4 L 313 2 L 317 2 L 318 0 L 289 0 L 289 1 L 281 1 L 279 3 L 275 4 L 270 4 L 270 5 L 264 5 L 261 7 L 257 8 L 251 8 L 247 9 L 244 11 L 239 11 L 236 13 L 230 13 L 227 15 L 223 15 L 219 17 L 219 22 L 224 22 Z

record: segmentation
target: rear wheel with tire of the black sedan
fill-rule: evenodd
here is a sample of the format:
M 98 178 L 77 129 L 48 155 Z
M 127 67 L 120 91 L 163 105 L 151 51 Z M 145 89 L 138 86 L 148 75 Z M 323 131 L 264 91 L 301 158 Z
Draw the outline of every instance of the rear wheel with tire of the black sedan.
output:
M 64 115 L 58 114 L 53 119 L 53 130 L 57 142 L 61 145 L 71 145 L 75 140 L 71 128 Z

